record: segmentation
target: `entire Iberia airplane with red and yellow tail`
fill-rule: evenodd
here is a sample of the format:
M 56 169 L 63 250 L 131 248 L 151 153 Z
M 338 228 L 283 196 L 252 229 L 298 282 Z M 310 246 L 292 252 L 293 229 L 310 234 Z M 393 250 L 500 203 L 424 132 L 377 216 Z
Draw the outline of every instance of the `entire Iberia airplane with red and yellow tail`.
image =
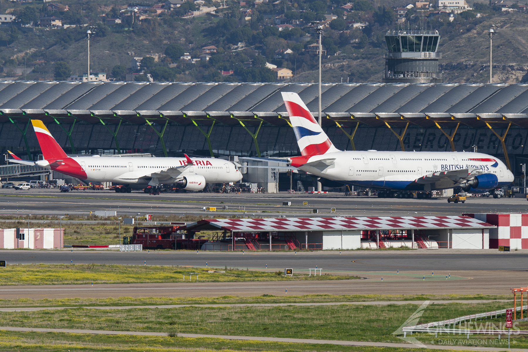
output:
M 135 158 L 127 156 L 70 157 L 41 120 L 31 120 L 44 160 L 22 160 L 10 154 L 12 163 L 38 165 L 46 169 L 96 182 L 125 185 L 116 192 L 130 192 L 131 188 L 147 185 L 176 183 L 189 191 L 200 191 L 206 183 L 237 182 L 240 170 L 231 161 L 216 158 Z

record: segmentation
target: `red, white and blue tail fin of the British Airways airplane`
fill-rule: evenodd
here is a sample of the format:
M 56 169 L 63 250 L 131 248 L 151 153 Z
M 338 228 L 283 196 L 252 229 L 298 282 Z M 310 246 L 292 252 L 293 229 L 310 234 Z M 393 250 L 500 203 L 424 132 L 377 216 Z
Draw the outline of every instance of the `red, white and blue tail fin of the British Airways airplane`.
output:
M 306 107 L 299 94 L 282 92 L 282 99 L 288 110 L 291 126 L 294 128 L 297 144 L 303 156 L 322 155 L 339 151 L 314 116 Z

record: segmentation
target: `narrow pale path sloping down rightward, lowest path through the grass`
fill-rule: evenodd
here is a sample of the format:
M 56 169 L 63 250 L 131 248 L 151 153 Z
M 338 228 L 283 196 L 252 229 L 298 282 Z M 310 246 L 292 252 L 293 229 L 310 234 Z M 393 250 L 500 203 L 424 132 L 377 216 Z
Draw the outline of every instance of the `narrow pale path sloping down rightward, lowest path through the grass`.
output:
M 0 327 L 0 330 L 7 331 L 37 331 L 37 332 L 71 332 L 73 334 L 103 334 L 103 335 L 134 335 L 134 336 L 169 336 L 168 332 L 146 332 L 146 331 L 109 331 L 109 330 L 82 330 L 82 329 L 42 329 L 42 328 L 19 328 L 19 327 Z M 204 334 L 175 334 L 177 337 L 191 337 L 191 338 L 222 338 L 229 340 L 251 340 L 251 341 L 272 341 L 283 343 L 297 343 L 297 344 L 329 344 L 341 346 L 373 346 L 373 347 L 392 347 L 392 348 L 431 348 L 431 349 L 449 349 L 459 351 L 504 351 L 504 348 L 490 348 L 490 347 L 461 347 L 461 346 L 442 346 L 442 345 L 423 345 L 416 340 L 417 345 L 413 344 L 396 344 L 396 343 L 378 343 L 378 342 L 364 342 L 364 341 L 340 341 L 340 340 L 315 340 L 315 339 L 294 339 L 294 338 L 280 338 L 280 337 L 259 337 L 259 336 L 230 336 L 230 335 L 204 335 Z M 478 335 L 477 335 L 478 336 Z M 475 340 L 478 337 L 474 337 Z M 505 341 L 505 340 L 504 340 Z M 503 345 L 504 346 L 504 345 Z M 510 351 L 528 352 L 528 349 L 512 348 Z

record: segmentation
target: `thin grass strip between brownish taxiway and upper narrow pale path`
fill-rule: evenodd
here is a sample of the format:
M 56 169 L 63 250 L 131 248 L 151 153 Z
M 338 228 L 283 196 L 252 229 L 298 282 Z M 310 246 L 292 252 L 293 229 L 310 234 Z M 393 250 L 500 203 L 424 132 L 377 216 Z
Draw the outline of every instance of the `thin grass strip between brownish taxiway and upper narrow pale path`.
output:
M 318 303 L 318 302 L 371 302 L 371 301 L 424 301 L 424 300 L 503 300 L 510 295 L 485 296 L 483 294 L 305 294 L 304 296 L 220 296 L 220 297 L 110 297 L 60 299 L 0 299 L 0 307 L 102 307 L 102 306 L 164 306 L 164 305 L 227 305 L 238 303 Z

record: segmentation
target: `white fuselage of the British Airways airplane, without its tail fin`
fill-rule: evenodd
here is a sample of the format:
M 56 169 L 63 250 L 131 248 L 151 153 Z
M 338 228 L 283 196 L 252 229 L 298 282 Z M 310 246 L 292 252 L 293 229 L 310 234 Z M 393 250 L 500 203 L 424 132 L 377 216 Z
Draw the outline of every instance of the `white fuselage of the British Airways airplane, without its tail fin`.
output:
M 411 182 L 428 174 L 468 167 L 496 175 L 499 186 L 512 183 L 514 178 L 498 158 L 470 152 L 338 151 L 313 156 L 308 162 L 332 158 L 335 160 L 328 166 L 301 165 L 298 168 L 316 176 L 352 185 L 391 189 L 408 188 L 407 185 Z M 490 160 L 482 161 L 482 159 Z M 431 189 L 452 188 L 453 184 L 432 184 L 431 187 Z

